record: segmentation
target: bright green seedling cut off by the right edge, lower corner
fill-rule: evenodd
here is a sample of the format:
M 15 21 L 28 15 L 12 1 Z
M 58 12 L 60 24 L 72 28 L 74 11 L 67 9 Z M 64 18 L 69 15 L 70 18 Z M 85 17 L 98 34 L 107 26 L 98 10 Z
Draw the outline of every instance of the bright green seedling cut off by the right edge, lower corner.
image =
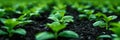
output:
M 111 35 L 100 35 L 98 38 L 111 38 L 112 40 L 120 40 L 120 22 L 112 22 L 110 23 L 112 28 L 109 30 L 113 31 L 115 34 Z

